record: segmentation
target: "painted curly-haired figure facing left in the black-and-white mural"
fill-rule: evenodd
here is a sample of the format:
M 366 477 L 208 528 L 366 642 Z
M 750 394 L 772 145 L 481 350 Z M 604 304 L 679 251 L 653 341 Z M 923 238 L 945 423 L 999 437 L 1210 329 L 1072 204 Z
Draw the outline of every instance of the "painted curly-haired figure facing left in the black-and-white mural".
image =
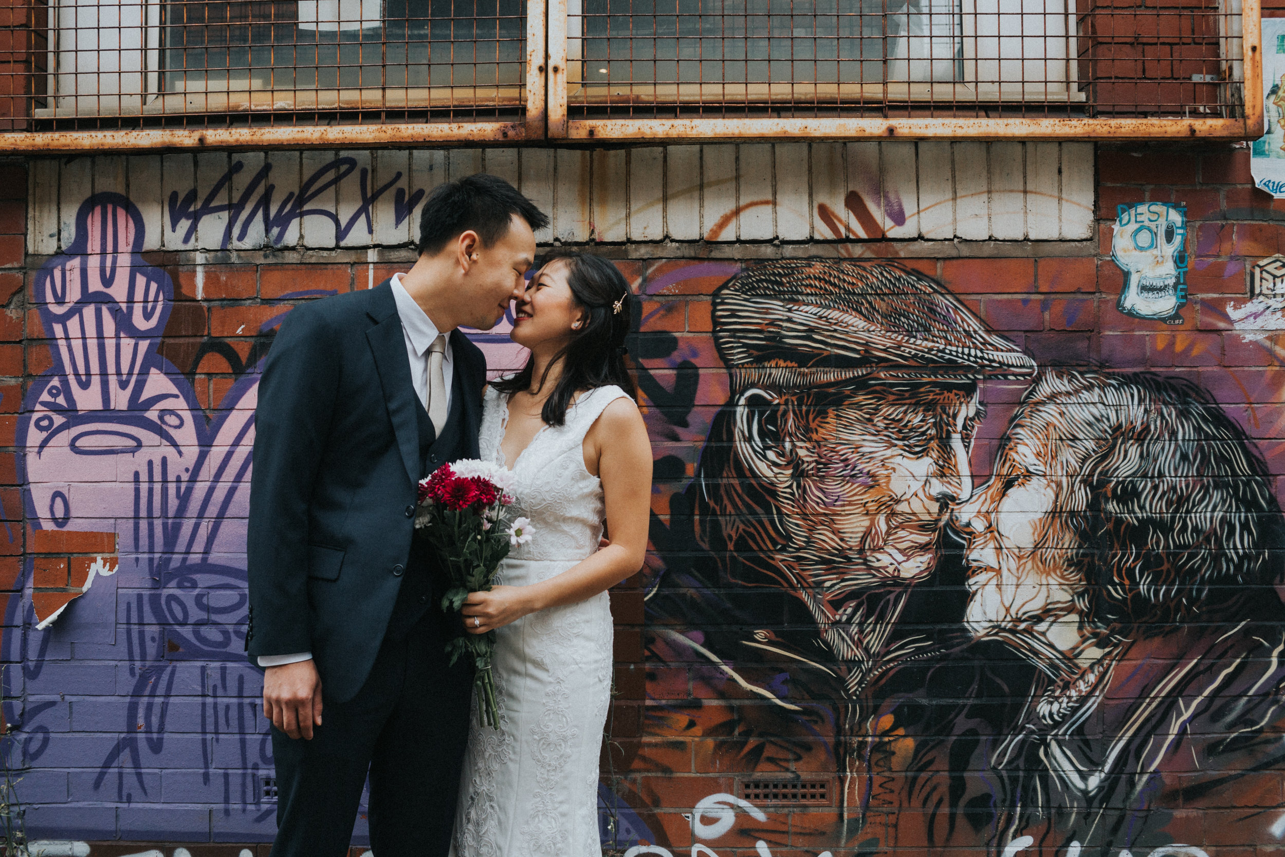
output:
M 866 757 L 870 815 L 897 818 L 883 842 L 1114 856 L 1276 839 L 1285 519 L 1237 424 L 1181 380 L 1050 371 L 956 520 L 968 626 L 1038 677 L 1002 725 L 968 699 L 952 722 L 917 694 L 885 703 Z

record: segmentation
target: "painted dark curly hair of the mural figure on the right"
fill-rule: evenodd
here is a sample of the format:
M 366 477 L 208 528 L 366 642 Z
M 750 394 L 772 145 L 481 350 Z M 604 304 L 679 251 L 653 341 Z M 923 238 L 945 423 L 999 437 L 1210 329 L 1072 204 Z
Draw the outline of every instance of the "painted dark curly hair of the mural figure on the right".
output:
M 1086 619 L 1133 636 L 1279 612 L 1285 518 L 1244 429 L 1186 380 L 1045 373 L 1014 424 L 1069 447 Z M 1078 468 L 1077 468 L 1078 465 Z M 1078 472 L 1077 472 L 1078 469 Z

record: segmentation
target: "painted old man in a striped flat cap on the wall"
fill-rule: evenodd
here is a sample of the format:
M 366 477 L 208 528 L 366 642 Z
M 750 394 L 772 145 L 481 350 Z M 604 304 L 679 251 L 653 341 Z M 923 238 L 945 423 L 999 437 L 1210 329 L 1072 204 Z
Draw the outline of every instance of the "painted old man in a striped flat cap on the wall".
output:
M 671 500 L 648 644 L 729 704 L 650 708 L 648 734 L 734 739 L 717 770 L 833 776 L 871 680 L 947 644 L 950 610 L 916 613 L 910 595 L 971 495 L 978 380 L 1034 365 L 888 263 L 750 269 L 714 293 L 713 324 L 731 397 Z

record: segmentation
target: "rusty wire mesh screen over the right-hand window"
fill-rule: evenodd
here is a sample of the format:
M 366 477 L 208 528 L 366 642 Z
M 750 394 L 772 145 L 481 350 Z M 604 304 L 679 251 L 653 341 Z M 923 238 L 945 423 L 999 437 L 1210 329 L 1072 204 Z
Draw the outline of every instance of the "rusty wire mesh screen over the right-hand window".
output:
M 571 118 L 1241 114 L 1228 0 L 571 0 Z

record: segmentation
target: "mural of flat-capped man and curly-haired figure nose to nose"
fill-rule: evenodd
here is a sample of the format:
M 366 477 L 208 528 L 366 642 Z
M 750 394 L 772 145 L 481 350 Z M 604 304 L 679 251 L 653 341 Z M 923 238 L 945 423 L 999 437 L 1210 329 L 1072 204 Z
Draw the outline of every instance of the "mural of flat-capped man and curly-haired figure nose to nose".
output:
M 662 775 L 690 741 L 741 797 L 824 799 L 722 842 L 659 815 L 637 853 L 1279 840 L 1285 518 L 1208 392 L 1034 376 L 888 263 L 750 267 L 714 290 L 713 339 L 729 397 L 653 524 L 632 797 L 675 800 Z M 1025 392 L 975 486 L 993 379 Z

